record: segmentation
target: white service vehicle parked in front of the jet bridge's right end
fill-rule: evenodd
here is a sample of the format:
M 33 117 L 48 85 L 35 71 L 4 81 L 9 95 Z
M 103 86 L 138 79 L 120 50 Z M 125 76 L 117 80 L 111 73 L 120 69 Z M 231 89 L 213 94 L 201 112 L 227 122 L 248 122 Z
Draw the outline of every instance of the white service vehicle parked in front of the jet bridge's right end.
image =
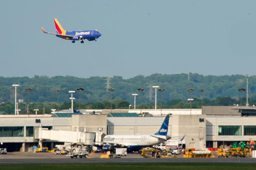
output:
M 71 149 L 69 150 L 68 156 L 71 158 L 87 158 L 89 155 L 89 149 L 87 146 L 84 146 L 81 143 L 74 143 L 71 145 Z

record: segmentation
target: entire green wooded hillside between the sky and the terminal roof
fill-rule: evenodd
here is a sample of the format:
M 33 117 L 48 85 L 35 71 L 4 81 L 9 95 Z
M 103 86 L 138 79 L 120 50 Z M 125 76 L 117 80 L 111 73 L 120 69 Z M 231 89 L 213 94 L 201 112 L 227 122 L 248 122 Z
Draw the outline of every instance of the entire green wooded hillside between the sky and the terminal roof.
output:
M 133 78 L 123 79 L 121 76 L 113 77 L 90 77 L 78 78 L 74 76 L 37 76 L 29 77 L 0 77 L 0 111 L 6 113 L 14 113 L 15 89 L 12 84 L 19 84 L 17 87 L 17 101 L 20 112 L 25 112 L 28 100 L 30 109 L 40 109 L 50 112 L 51 109 L 69 109 L 67 103 L 70 103 L 71 94 L 69 91 L 75 91 L 73 97 L 74 106 L 81 101 L 81 108 L 88 109 L 108 109 L 111 101 L 112 108 L 129 108 L 134 105 L 134 96 L 136 93 L 136 107 L 154 108 L 155 88 L 159 86 L 165 89 L 161 93 L 157 89 L 157 106 L 160 106 L 162 100 L 162 108 L 190 108 L 190 98 L 193 108 L 200 108 L 200 101 L 203 98 L 204 106 L 227 106 L 240 104 L 240 97 L 244 98 L 246 92 L 249 91 L 249 104 L 256 105 L 256 76 L 248 77 L 248 89 L 244 92 L 238 91 L 239 88 L 246 88 L 246 77 L 244 75 L 199 75 L 197 73 L 188 74 L 152 74 L 150 76 L 137 75 Z M 77 88 L 83 88 L 80 92 Z M 107 89 L 113 88 L 110 92 Z M 32 89 L 29 93 L 25 89 Z M 138 91 L 143 88 L 144 91 Z M 194 91 L 189 93 L 188 88 Z M 57 91 L 59 89 L 59 91 Z M 200 91 L 203 89 L 204 91 Z M 119 102 L 118 101 L 122 101 Z M 141 101 L 141 103 L 140 103 Z M 129 103 L 129 104 L 128 104 Z M 243 104 L 244 105 L 244 104 Z M 66 106 L 66 107 L 65 107 Z M 3 107 L 5 108 L 3 110 Z M 131 106 L 134 107 L 134 106 Z M 74 107 L 75 108 L 75 107 Z M 75 109 L 78 109 L 76 107 Z M 33 111 L 33 110 L 31 110 Z

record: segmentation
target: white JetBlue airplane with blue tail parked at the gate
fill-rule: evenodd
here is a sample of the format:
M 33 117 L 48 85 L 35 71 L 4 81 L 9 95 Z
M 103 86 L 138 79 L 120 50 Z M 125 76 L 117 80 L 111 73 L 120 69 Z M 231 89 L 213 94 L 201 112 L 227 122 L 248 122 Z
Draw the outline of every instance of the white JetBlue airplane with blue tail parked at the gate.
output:
M 102 147 L 102 151 L 113 151 L 115 148 L 126 147 L 127 151 L 138 151 L 143 147 L 152 147 L 171 138 L 167 136 L 169 125 L 169 115 L 165 117 L 165 120 L 158 132 L 151 135 L 106 135 L 103 138 L 105 145 Z M 96 141 L 97 142 L 97 141 Z

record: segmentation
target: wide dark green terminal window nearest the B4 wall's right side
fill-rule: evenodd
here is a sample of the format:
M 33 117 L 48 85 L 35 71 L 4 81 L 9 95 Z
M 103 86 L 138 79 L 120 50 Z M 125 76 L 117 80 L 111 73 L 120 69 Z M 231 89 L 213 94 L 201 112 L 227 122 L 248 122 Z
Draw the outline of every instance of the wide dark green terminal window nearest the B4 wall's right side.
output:
M 219 135 L 242 135 L 242 126 L 219 126 Z

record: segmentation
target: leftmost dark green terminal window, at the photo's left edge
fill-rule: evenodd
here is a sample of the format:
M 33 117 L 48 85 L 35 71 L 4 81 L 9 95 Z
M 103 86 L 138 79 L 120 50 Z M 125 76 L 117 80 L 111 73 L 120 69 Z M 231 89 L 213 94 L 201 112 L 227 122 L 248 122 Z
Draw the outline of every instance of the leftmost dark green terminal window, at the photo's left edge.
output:
M 0 137 L 24 137 L 24 127 L 0 127 Z

